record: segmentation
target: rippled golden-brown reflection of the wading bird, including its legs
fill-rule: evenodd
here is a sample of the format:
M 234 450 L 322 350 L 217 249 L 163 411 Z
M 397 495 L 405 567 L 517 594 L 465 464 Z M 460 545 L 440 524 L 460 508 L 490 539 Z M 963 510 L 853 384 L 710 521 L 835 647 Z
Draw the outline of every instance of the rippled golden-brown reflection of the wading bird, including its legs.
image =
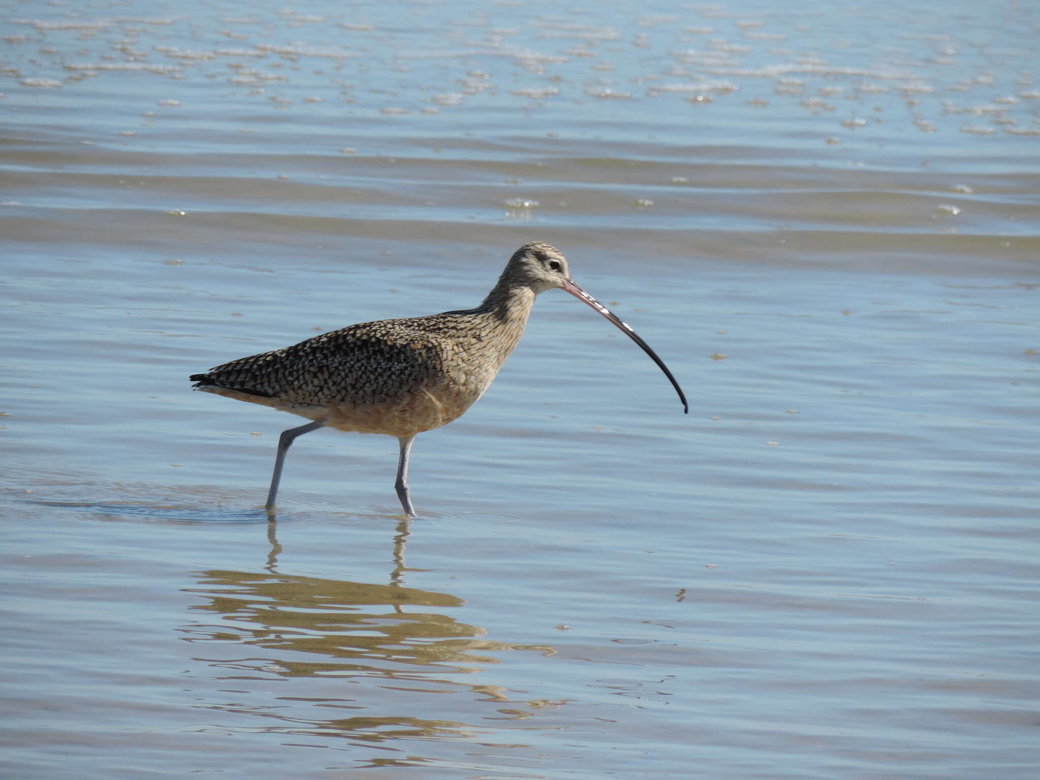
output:
M 183 639 L 197 652 L 220 648 L 193 658 L 208 671 L 192 676 L 218 681 L 223 692 L 211 693 L 220 701 L 202 706 L 235 714 L 214 728 L 254 731 L 257 724 L 240 718 L 261 716 L 265 731 L 365 745 L 466 737 L 477 733 L 463 720 L 472 714 L 473 701 L 491 702 L 488 714 L 499 718 L 505 710 L 497 707 L 517 703 L 512 692 L 478 678 L 484 666 L 498 662 L 489 653 L 552 652 L 487 640 L 484 628 L 445 614 L 461 607 L 462 599 L 406 587 L 406 573 L 416 571 L 405 563 L 407 519 L 395 528 L 386 584 L 279 572 L 277 530 L 271 518 L 262 571 L 210 569 L 185 589 L 204 599 L 192 612 L 208 617 L 183 627 Z M 272 682 L 286 685 L 272 695 Z M 462 699 L 445 696 L 450 694 Z

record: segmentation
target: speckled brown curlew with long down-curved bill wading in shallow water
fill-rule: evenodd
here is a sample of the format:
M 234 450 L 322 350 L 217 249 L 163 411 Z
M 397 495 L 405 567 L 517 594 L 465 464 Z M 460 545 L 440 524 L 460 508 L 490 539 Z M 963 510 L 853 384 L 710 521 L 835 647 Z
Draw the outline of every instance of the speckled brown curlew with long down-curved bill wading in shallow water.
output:
M 310 422 L 284 431 L 265 509 L 275 510 L 285 457 L 300 436 L 332 427 L 397 439 L 394 490 L 405 514 L 417 517 L 408 484 L 412 442 L 446 425 L 475 404 L 520 340 L 535 296 L 560 288 L 606 317 L 650 356 L 682 401 L 679 383 L 656 353 L 571 278 L 560 250 L 525 243 L 475 309 L 383 319 L 330 331 L 190 375 L 196 390 L 259 404 Z

